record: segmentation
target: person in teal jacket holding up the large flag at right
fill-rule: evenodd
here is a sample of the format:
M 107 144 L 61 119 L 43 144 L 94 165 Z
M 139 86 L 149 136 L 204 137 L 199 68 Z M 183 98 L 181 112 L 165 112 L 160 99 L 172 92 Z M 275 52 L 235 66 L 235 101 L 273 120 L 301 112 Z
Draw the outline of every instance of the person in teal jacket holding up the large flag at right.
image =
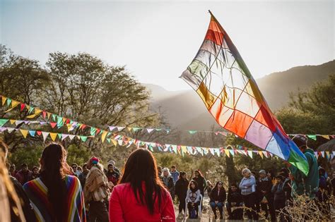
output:
M 295 135 L 292 140 L 306 156 L 309 166 L 307 175 L 299 171 L 295 166 L 289 166 L 290 179 L 292 180 L 292 197 L 296 199 L 298 195 L 303 195 L 305 192 L 305 195 L 310 197 L 310 200 L 315 199 L 315 195 L 319 190 L 319 170 L 314 151 L 307 147 L 307 137 L 304 135 Z

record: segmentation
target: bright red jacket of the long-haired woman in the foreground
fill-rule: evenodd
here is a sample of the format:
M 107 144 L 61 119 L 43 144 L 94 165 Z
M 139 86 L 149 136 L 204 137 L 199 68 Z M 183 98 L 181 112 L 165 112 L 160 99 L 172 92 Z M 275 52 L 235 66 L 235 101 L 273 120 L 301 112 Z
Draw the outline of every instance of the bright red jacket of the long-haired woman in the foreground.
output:
M 171 195 L 165 189 L 163 192 L 166 198 L 162 198 L 160 209 L 156 208 L 154 213 L 150 214 L 145 205 L 137 202 L 129 183 L 115 186 L 110 197 L 110 222 L 175 221 L 175 208 Z M 158 199 L 156 199 L 155 206 L 158 206 Z

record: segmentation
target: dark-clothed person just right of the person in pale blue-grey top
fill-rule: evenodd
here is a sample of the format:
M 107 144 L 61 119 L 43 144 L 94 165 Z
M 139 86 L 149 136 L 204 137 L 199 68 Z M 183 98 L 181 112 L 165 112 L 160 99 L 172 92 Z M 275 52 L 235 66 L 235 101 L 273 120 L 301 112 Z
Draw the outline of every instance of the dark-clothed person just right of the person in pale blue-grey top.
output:
M 265 218 L 268 218 L 270 211 L 271 221 L 276 221 L 276 214 L 274 211 L 274 198 L 271 194 L 271 188 L 272 181 L 266 176 L 266 171 L 259 171 L 258 190 L 261 199 L 261 209 L 265 212 Z

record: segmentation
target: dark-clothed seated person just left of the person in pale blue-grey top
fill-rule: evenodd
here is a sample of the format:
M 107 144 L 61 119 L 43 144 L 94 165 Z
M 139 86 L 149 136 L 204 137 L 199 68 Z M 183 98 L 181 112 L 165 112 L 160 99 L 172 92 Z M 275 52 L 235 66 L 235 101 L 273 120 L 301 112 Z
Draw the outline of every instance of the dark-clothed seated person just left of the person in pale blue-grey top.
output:
M 240 189 L 235 183 L 233 183 L 228 190 L 227 203 L 225 207 L 228 211 L 229 220 L 242 220 L 243 218 L 243 209 L 235 209 L 232 212 L 232 207 L 242 207 L 243 199 Z

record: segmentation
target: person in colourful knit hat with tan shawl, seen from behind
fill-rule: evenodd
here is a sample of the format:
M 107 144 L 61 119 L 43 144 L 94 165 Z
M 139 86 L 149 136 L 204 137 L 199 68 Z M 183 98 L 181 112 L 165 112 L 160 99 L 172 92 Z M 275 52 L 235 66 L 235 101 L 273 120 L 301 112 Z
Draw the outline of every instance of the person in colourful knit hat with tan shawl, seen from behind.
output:
M 89 205 L 88 222 L 95 219 L 102 222 L 109 221 L 105 201 L 110 198 L 110 189 L 103 166 L 99 162 L 100 159 L 92 156 L 86 165 L 90 170 L 84 187 L 85 204 Z

